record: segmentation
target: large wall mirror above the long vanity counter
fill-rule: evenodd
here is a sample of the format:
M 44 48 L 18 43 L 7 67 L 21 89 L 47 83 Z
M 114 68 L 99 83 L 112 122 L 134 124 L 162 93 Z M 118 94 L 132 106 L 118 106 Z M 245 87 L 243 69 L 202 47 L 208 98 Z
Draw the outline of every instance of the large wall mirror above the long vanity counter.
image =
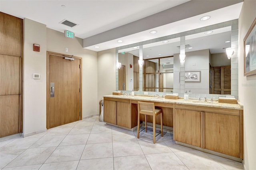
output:
M 231 47 L 231 21 L 227 23 L 212 29 L 210 34 L 196 30 L 186 32 L 185 91 L 231 94 L 231 60 L 225 53 L 225 49 Z M 142 91 L 180 93 L 180 34 L 149 42 L 118 47 L 118 61 L 125 65 L 128 76 L 123 83 L 126 87 L 122 89 L 120 86 L 118 90 L 139 91 L 141 88 Z M 140 45 L 144 60 L 142 80 L 139 77 L 138 44 L 143 44 Z M 139 81 L 142 81 L 142 87 L 139 87 Z

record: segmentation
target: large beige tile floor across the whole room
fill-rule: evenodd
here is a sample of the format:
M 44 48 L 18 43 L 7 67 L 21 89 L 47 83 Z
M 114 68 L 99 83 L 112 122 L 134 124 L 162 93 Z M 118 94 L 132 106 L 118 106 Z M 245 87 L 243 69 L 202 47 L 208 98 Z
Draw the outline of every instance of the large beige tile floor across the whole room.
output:
M 240 162 L 175 144 L 172 132 L 152 136 L 99 122 L 98 117 L 0 142 L 0 170 L 243 169 Z

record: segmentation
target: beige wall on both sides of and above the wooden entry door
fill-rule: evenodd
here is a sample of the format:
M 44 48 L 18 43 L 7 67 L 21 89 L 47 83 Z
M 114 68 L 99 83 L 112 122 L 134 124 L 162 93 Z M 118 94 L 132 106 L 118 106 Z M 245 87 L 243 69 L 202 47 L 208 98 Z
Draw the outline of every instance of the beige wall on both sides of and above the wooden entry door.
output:
M 40 52 L 33 51 L 33 43 L 40 44 Z M 80 38 L 65 38 L 62 32 L 24 19 L 23 136 L 46 130 L 46 51 L 82 57 L 82 116 L 98 114 L 98 54 L 82 48 L 82 43 Z M 33 79 L 33 73 L 41 78 Z

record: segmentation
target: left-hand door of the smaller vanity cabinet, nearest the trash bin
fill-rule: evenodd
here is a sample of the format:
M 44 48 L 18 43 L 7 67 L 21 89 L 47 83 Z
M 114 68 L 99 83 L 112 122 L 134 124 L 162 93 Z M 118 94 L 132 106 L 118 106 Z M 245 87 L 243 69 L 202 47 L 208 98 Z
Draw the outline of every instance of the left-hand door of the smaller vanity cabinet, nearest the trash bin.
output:
M 116 125 L 116 102 L 104 100 L 104 121 Z

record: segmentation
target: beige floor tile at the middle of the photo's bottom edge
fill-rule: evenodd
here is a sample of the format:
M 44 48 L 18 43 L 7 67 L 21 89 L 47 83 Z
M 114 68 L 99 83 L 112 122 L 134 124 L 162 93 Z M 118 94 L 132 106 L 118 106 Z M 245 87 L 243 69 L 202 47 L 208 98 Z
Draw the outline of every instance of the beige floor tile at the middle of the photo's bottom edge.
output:
M 114 158 L 115 170 L 151 170 L 144 155 L 121 156 Z

